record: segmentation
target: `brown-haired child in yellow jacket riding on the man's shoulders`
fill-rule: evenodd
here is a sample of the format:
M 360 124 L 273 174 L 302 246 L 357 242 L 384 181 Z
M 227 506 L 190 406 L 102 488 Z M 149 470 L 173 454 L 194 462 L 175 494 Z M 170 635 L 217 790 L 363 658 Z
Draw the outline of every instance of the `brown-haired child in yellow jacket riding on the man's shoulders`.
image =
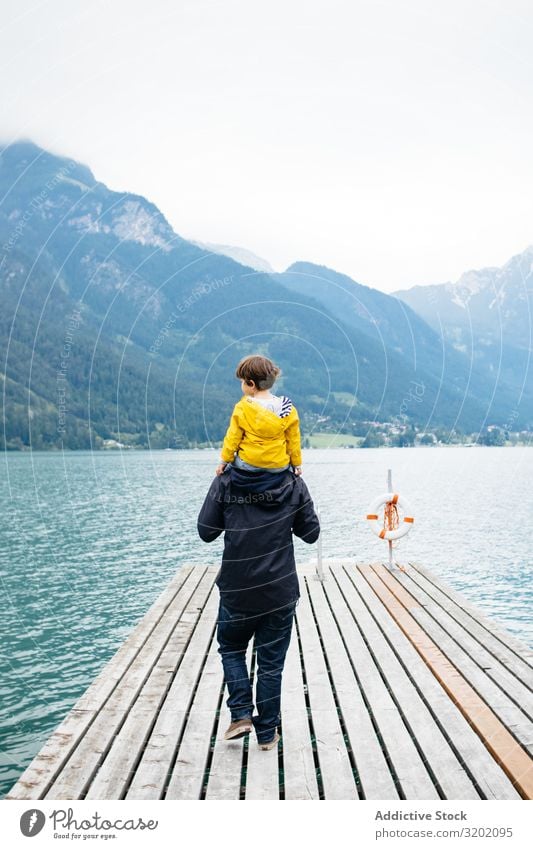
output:
M 302 473 L 300 426 L 296 407 L 285 395 L 270 392 L 281 370 L 258 354 L 240 361 L 235 376 L 244 396 L 235 404 L 222 446 L 221 475 L 227 463 L 249 472 Z

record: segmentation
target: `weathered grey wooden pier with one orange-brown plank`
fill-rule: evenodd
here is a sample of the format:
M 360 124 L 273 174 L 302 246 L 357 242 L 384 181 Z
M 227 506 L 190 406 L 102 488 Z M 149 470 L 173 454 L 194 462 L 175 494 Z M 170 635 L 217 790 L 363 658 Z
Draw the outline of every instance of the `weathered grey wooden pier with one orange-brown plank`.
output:
M 179 570 L 8 799 L 533 798 L 533 652 L 420 566 L 300 569 L 282 741 L 225 742 L 217 571 Z

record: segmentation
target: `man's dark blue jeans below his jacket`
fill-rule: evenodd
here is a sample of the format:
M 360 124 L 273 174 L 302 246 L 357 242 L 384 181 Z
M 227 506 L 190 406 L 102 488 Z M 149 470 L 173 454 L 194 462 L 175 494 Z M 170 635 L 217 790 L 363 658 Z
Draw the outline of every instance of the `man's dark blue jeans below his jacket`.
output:
M 252 718 L 259 743 L 274 737 L 281 714 L 281 675 L 291 640 L 297 602 L 271 613 L 247 614 L 230 610 L 220 602 L 217 640 L 224 679 L 228 685 L 226 702 L 231 721 L 252 718 L 253 695 L 246 667 L 248 643 L 255 636 L 257 650 L 256 707 Z

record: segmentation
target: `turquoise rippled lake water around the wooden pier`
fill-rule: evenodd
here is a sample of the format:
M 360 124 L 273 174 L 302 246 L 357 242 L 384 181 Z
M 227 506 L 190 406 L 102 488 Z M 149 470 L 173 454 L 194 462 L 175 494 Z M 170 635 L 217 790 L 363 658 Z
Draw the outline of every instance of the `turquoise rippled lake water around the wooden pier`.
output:
M 184 562 L 217 562 L 196 536 L 210 451 L 5 454 L 1 460 L 0 792 Z M 533 448 L 304 452 L 325 557 L 386 553 L 364 521 L 386 489 L 416 523 L 396 551 L 440 574 L 533 645 Z M 296 545 L 316 557 L 316 546 Z

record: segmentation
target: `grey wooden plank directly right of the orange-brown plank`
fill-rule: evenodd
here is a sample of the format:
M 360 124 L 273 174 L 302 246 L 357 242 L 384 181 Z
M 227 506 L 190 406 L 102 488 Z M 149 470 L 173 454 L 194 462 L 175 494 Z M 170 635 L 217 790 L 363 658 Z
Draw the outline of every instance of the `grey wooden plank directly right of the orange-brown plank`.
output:
M 399 584 L 396 578 L 391 575 L 385 566 L 374 567 L 374 572 L 378 574 L 385 586 L 388 587 L 390 592 L 396 598 L 398 598 L 398 588 L 401 589 L 402 598 L 405 597 L 405 595 L 410 595 L 407 593 L 405 588 Z M 411 598 L 413 598 L 413 596 L 411 596 Z M 433 604 L 434 602 L 432 605 Z M 511 701 L 507 693 L 494 683 L 492 678 L 488 676 L 486 670 L 480 668 L 480 666 L 472 660 L 467 649 L 475 650 L 475 648 L 471 646 L 471 638 L 469 638 L 468 634 L 464 634 L 462 639 L 461 635 L 459 635 L 461 643 L 465 646 L 465 649 L 463 649 L 461 645 L 459 645 L 458 642 L 447 633 L 441 624 L 435 621 L 435 618 L 430 615 L 430 612 L 419 605 L 418 602 L 416 606 L 410 608 L 410 613 L 415 621 L 418 622 L 418 624 L 424 629 L 426 634 L 428 634 L 433 642 L 438 645 L 440 651 L 446 655 L 448 661 L 453 664 L 455 669 L 458 670 L 463 678 L 475 688 L 478 695 L 485 701 L 493 713 L 499 717 L 503 725 L 512 731 L 514 736 L 524 747 L 529 748 L 530 753 L 533 753 L 533 723 L 528 716 L 516 704 L 514 704 L 513 701 Z

